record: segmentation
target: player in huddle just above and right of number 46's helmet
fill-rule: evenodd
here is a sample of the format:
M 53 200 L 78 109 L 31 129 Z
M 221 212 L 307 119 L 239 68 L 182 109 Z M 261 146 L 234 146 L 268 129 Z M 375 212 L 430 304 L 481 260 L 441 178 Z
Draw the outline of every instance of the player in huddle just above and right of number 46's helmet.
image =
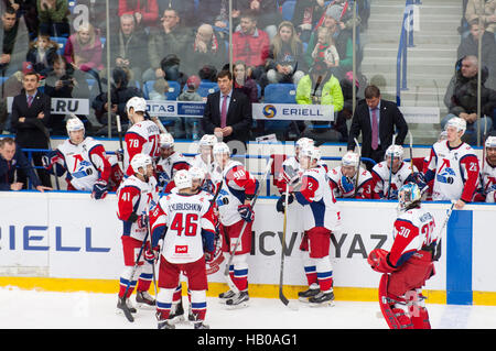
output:
M 205 173 L 205 186 L 209 193 L 215 193 L 215 185 L 220 183 L 222 172 L 214 161 L 214 145 L 217 136 L 204 134 L 198 142 L 198 154 L 190 162 L 192 167 L 198 167 Z

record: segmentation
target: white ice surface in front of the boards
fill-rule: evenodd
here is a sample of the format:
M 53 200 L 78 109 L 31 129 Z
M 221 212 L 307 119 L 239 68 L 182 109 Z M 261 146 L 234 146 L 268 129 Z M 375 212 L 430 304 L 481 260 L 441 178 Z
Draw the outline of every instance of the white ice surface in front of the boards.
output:
M 132 301 L 134 295 L 132 296 Z M 183 297 L 187 310 L 187 297 Z M 319 330 L 387 329 L 378 317 L 378 303 L 335 301 L 333 307 L 310 307 L 298 303 L 296 311 L 279 299 L 251 298 L 250 306 L 227 310 L 208 297 L 207 317 L 212 330 Z M 153 309 L 139 309 L 134 322 L 116 312 L 117 295 L 51 293 L 0 288 L 0 329 L 157 329 Z M 496 306 L 427 305 L 433 329 L 496 329 Z M 177 329 L 192 329 L 184 322 Z

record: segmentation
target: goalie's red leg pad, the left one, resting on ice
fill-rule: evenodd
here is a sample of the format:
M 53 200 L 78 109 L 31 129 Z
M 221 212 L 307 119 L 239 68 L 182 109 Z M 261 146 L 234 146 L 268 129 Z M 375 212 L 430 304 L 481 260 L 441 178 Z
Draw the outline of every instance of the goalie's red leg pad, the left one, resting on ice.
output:
M 388 294 L 389 274 L 382 274 L 379 283 L 379 305 L 390 329 L 411 329 L 413 326 L 402 308 L 395 306 L 398 300 Z

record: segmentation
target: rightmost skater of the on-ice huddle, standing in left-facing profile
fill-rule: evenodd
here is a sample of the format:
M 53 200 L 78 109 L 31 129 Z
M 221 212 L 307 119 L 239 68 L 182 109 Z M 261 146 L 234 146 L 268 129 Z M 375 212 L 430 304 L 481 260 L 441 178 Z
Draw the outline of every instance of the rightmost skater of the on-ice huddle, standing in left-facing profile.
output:
M 295 199 L 303 206 L 304 235 L 300 250 L 309 284 L 309 289 L 298 295 L 313 306 L 333 304 L 333 266 L 328 254 L 331 235 L 341 228 L 339 208 L 328 185 L 327 171 L 319 165 L 320 158 L 319 147 L 306 146 L 300 151 L 304 173 L 295 193 Z

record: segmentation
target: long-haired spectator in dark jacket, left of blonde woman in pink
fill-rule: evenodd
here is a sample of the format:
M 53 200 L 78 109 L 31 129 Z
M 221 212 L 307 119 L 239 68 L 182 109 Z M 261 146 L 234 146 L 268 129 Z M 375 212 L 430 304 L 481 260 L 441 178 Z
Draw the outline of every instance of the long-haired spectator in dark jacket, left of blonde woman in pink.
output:
M 31 42 L 30 51 L 25 59 L 30 62 L 34 70 L 42 77 L 46 77 L 52 70 L 52 64 L 57 55 L 58 44 L 50 39 L 48 34 L 42 34 Z

